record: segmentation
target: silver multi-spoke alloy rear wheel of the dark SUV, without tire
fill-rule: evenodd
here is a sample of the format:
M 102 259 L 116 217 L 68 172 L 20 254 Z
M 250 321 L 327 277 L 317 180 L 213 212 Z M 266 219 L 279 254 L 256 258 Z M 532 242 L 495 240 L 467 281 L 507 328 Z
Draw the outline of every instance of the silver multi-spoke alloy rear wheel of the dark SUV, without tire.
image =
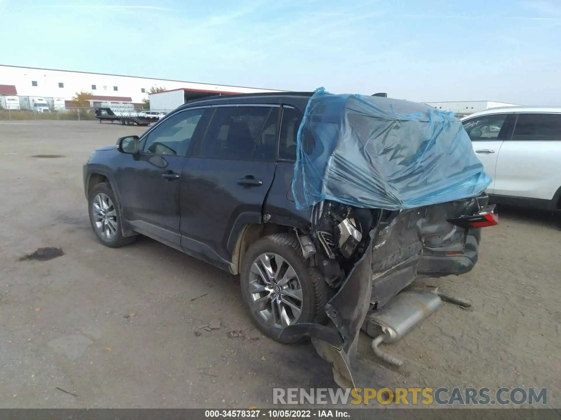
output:
M 287 260 L 273 253 L 259 255 L 249 275 L 251 304 L 266 323 L 284 328 L 302 312 L 302 285 Z

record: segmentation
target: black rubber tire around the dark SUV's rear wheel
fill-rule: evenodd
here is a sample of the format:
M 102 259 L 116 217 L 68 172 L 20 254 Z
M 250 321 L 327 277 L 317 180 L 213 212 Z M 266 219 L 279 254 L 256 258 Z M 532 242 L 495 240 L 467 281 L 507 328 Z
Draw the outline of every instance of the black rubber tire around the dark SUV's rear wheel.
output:
M 305 340 L 305 336 L 280 339 L 282 328 L 268 324 L 251 303 L 250 271 L 251 265 L 262 254 L 274 253 L 286 260 L 295 270 L 302 288 L 302 311 L 297 320 L 302 323 L 324 324 L 327 320 L 325 304 L 327 303 L 327 289 L 323 276 L 313 264 L 313 259 L 305 260 L 298 238 L 292 234 L 274 234 L 265 236 L 247 250 L 241 266 L 240 284 L 243 301 L 247 312 L 259 330 L 267 337 L 283 343 L 298 343 Z

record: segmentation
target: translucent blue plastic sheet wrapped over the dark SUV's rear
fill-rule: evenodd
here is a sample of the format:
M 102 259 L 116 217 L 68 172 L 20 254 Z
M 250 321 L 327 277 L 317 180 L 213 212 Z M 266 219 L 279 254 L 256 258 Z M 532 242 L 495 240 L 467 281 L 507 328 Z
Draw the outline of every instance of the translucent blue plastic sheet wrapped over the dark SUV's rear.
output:
M 296 147 L 298 209 L 328 199 L 402 210 L 473 197 L 491 183 L 454 114 L 416 102 L 319 88 Z

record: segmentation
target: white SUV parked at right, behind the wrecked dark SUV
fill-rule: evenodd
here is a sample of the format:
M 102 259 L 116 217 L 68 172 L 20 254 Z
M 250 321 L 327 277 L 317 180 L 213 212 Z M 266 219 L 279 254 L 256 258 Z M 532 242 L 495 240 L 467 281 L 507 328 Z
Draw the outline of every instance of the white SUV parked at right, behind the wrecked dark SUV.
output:
M 493 178 L 491 202 L 561 209 L 561 106 L 493 108 L 462 123 Z

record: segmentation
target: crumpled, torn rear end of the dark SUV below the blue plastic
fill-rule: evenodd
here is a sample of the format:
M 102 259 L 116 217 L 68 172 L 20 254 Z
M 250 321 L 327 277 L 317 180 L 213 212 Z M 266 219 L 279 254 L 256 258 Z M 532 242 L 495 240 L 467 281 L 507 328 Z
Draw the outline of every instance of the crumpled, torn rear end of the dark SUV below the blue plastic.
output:
M 337 384 L 353 388 L 353 358 L 366 316 L 384 307 L 418 276 L 447 276 L 471 270 L 477 262 L 480 229 L 461 227 L 454 221 L 481 213 L 486 204 L 485 194 L 405 211 L 321 203 L 314 211 L 310 237 L 317 250 L 316 265 L 334 290 L 325 306 L 330 325 L 292 325 L 284 329 L 283 336 L 305 331 L 320 356 L 332 363 Z M 352 222 L 351 228 L 339 228 L 345 220 Z M 342 249 L 348 238 L 341 232 L 353 228 L 361 237 L 354 253 L 346 258 Z M 325 237 L 330 238 L 327 245 L 322 240 Z M 341 277 L 330 268 L 332 263 L 338 264 Z M 340 339 L 328 330 L 337 331 Z

